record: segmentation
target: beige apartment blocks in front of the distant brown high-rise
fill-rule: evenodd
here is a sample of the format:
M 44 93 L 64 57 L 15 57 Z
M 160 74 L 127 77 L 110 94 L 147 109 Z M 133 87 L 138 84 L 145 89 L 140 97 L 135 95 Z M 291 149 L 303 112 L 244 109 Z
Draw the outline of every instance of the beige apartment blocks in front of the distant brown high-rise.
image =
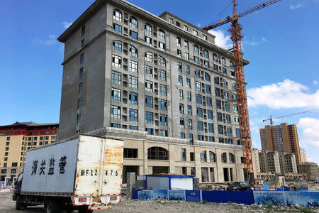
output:
M 284 175 L 286 178 L 301 178 L 298 174 L 296 158 L 291 153 L 279 153 L 252 149 L 254 178 L 270 178 Z

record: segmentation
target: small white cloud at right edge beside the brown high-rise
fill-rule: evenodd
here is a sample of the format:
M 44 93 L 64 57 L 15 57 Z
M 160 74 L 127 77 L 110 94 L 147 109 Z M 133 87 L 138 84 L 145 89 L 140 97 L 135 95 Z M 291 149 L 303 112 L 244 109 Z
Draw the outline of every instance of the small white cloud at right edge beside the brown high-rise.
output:
M 303 136 L 305 136 L 301 139 L 301 144 L 310 143 L 319 147 L 319 119 L 303 118 L 298 121 L 297 126 L 302 129 Z

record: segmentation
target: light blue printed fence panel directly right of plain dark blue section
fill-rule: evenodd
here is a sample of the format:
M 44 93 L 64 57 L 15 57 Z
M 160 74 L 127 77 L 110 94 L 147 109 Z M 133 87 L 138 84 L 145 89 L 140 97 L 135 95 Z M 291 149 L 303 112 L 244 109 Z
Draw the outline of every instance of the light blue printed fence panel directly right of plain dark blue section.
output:
M 284 192 L 281 191 L 254 191 L 254 203 L 259 205 L 286 204 Z

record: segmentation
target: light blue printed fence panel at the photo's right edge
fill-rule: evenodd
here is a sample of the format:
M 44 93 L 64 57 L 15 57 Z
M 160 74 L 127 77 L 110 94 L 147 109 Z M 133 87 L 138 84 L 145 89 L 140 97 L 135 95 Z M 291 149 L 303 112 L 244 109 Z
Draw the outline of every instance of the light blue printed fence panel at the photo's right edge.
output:
M 298 204 L 301 207 L 319 207 L 319 192 L 284 192 L 287 205 Z

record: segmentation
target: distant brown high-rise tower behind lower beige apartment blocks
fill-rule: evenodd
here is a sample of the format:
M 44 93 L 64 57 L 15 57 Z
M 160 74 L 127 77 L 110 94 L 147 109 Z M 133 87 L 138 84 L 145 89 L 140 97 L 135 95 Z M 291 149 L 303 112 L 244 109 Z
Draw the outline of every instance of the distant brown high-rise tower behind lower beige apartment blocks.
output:
M 262 150 L 293 153 L 296 156 L 297 164 L 301 163 L 297 126 L 295 124 L 282 123 L 273 126 L 273 133 L 270 126 L 259 129 Z

